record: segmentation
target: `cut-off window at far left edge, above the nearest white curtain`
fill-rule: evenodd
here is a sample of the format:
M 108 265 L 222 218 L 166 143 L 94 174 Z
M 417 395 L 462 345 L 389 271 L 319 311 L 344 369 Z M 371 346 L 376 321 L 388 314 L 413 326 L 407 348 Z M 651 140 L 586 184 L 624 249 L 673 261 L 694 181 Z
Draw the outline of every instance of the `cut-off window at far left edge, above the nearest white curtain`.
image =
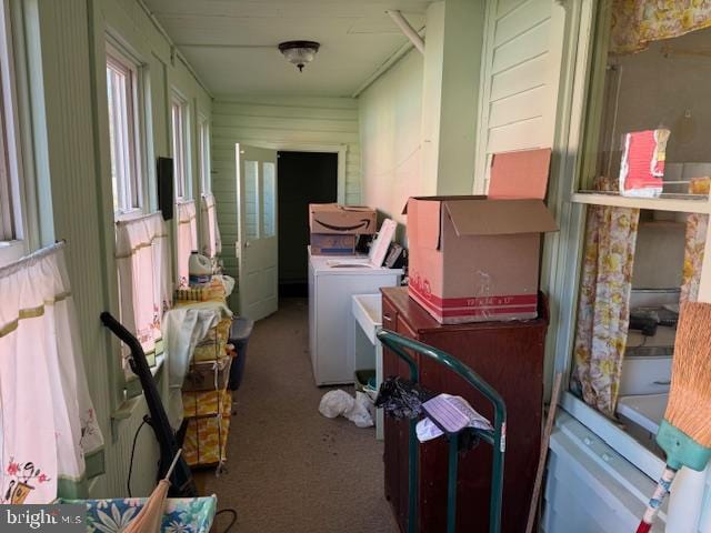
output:
M 10 2 L 0 6 L 0 265 L 31 251 Z M 19 51 L 22 56 L 23 51 Z M 29 148 L 29 147 L 24 147 Z M 27 155 L 27 154 L 26 154 Z

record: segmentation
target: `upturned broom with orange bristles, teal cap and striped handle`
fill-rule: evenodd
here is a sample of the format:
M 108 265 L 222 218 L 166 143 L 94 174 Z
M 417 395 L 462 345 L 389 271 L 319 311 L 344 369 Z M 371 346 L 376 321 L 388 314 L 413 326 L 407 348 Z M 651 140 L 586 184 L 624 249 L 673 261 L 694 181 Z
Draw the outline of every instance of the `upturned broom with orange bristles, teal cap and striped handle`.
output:
M 679 469 L 701 472 L 711 459 L 711 304 L 685 302 L 680 311 L 669 403 L 657 433 L 667 467 L 637 533 L 652 527 Z

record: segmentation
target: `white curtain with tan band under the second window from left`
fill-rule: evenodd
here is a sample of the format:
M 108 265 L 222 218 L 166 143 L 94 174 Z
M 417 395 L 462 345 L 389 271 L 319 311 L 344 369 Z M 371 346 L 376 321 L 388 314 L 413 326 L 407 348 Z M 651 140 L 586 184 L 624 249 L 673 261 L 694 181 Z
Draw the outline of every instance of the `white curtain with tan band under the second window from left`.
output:
M 171 306 L 172 284 L 168 231 L 160 213 L 117 222 L 121 321 L 144 352 L 161 338 L 163 312 Z M 128 348 L 123 346 L 123 355 Z M 127 374 L 130 373 L 124 365 Z

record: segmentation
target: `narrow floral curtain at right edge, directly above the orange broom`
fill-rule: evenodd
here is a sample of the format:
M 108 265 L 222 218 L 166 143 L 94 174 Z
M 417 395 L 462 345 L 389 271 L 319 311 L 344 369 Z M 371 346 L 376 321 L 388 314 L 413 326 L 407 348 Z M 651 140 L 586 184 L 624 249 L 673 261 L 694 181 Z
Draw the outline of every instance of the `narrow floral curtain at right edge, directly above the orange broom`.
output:
M 711 178 L 693 178 L 689 183 L 689 192 L 692 194 L 708 195 L 709 190 L 711 190 Z M 684 271 L 680 303 L 695 302 L 699 299 L 701 264 L 703 263 L 703 248 L 707 242 L 708 228 L 708 214 L 690 213 L 687 215 Z

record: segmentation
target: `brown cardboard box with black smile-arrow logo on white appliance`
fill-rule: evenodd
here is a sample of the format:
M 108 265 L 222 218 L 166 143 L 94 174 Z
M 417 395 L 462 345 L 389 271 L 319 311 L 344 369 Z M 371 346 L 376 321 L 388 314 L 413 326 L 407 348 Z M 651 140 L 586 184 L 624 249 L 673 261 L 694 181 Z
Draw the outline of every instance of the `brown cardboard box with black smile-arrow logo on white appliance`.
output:
M 372 235 L 378 231 L 374 209 L 338 203 L 310 203 L 311 233 Z

